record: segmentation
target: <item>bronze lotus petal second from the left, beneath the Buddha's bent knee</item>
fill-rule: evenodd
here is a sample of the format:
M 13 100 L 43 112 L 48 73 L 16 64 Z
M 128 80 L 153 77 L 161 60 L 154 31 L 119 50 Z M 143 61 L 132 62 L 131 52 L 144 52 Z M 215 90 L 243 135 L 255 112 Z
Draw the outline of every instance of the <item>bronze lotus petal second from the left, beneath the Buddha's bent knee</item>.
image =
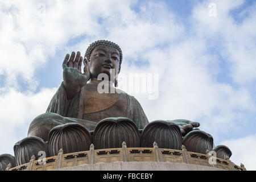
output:
M 46 152 L 46 157 L 49 156 L 47 144 L 39 137 L 27 137 L 15 143 L 14 154 L 16 165 L 19 166 L 30 162 L 32 155 L 35 155 L 37 160 L 39 158 L 39 151 L 44 151 Z

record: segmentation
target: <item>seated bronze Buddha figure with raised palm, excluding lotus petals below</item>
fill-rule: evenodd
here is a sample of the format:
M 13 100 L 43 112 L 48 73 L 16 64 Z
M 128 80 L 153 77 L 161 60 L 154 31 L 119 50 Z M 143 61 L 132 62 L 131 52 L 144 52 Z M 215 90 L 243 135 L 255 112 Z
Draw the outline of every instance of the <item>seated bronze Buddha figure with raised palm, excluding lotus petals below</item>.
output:
M 84 73 L 81 65 L 84 63 Z M 46 114 L 32 121 L 28 136 L 47 141 L 49 131 L 64 123 L 80 123 L 88 130 L 94 130 L 99 121 L 109 117 L 132 119 L 138 129 L 147 125 L 148 119 L 139 102 L 129 94 L 114 88 L 121 69 L 122 51 L 119 46 L 107 40 L 98 40 L 88 47 L 84 59 L 80 52 L 67 54 L 63 61 L 63 82 L 48 106 Z M 110 70 L 114 70 L 114 80 Z M 114 93 L 98 93 L 100 73 L 109 76 L 110 89 Z M 56 113 L 56 114 L 54 114 Z

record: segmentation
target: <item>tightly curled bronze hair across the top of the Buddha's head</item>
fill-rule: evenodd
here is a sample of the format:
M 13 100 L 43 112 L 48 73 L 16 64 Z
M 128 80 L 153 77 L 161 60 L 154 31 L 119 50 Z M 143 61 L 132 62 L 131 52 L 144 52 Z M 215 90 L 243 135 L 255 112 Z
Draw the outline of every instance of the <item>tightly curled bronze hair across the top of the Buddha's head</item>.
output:
M 110 42 L 108 40 L 97 40 L 93 43 L 90 44 L 90 46 L 86 49 L 86 52 L 85 52 L 85 57 L 87 57 L 87 59 L 90 59 L 90 54 L 92 53 L 93 49 L 96 47 L 96 46 L 99 46 L 99 45 L 105 45 L 105 46 L 110 46 L 110 47 L 114 47 L 116 49 L 118 49 L 119 53 L 120 53 L 120 60 L 119 60 L 119 70 L 118 70 L 118 73 L 120 72 L 121 70 L 121 64 L 122 64 L 122 58 L 123 58 L 123 55 L 122 55 L 122 50 L 121 48 L 113 43 L 113 42 Z

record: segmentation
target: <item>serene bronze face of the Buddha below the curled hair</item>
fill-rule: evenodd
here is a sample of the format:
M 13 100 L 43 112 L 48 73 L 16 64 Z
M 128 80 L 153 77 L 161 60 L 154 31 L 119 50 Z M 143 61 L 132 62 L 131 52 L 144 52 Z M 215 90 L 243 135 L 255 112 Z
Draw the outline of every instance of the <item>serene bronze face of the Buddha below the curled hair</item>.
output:
M 97 78 L 100 73 L 106 73 L 110 78 L 110 69 L 115 70 L 118 75 L 120 53 L 118 49 L 110 46 L 96 46 L 88 60 L 90 76 Z

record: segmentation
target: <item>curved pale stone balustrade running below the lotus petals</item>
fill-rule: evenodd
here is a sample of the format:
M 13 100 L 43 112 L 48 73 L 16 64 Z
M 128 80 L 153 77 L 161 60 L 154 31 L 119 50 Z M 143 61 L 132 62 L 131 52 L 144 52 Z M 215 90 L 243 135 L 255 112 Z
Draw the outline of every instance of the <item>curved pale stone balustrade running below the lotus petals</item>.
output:
M 91 144 L 89 151 L 63 154 L 63 150 L 60 150 L 57 156 L 40 160 L 35 160 L 35 156 L 32 156 L 29 163 L 14 168 L 8 165 L 6 171 L 46 171 L 50 169 L 74 167 L 81 164 L 113 162 L 172 162 L 196 164 L 229 171 L 246 170 L 243 164 L 237 166 L 231 162 L 229 158 L 226 160 L 216 158 L 216 164 L 210 164 L 210 155 L 189 152 L 186 150 L 185 146 L 182 146 L 182 150 L 158 148 L 155 142 L 153 146 L 152 148 L 127 148 L 126 143 L 123 142 L 122 148 L 94 150 L 94 146 Z

